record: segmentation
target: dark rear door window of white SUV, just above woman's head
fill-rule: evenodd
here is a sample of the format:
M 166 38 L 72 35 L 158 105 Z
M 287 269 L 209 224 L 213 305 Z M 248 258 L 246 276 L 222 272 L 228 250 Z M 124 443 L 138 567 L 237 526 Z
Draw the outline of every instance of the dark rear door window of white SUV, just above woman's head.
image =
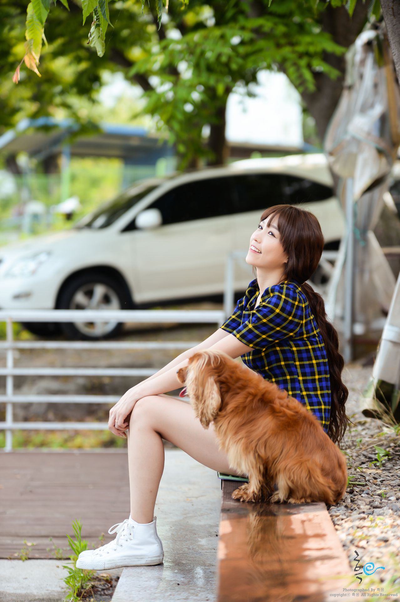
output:
M 264 211 L 282 200 L 282 176 L 279 173 L 248 173 L 232 177 L 237 199 L 235 213 Z

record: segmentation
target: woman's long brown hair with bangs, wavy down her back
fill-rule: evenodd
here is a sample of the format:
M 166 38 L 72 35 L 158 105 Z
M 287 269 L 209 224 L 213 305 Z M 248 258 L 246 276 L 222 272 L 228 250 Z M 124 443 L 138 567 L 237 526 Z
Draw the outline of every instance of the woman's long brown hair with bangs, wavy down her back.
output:
M 283 251 L 288 255 L 283 279 L 296 280 L 301 285 L 324 341 L 331 391 L 328 435 L 334 443 L 338 442 L 340 447 L 348 422 L 351 422 L 345 412 L 348 388 L 342 382 L 341 376 L 344 358 L 339 353 L 338 332 L 327 318 L 324 299 L 306 282 L 317 270 L 324 249 L 324 235 L 317 217 L 308 209 L 300 208 L 298 205 L 273 205 L 265 209 L 260 222 L 271 216 L 267 223 L 269 227 L 272 214 L 277 217 L 275 223 L 279 230 L 280 242 Z M 255 267 L 253 273 L 254 270 Z

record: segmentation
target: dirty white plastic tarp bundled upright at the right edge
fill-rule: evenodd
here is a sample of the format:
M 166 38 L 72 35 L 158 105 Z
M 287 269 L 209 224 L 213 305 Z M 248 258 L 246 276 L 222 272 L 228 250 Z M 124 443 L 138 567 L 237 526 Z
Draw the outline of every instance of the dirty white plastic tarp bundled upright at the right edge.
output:
M 390 338 L 380 341 L 373 377 L 374 385 L 383 380 L 392 385 L 393 399 L 400 385 L 400 285 L 373 230 L 399 143 L 400 89 L 386 26 L 384 22 L 367 24 L 348 51 L 344 91 L 324 139 L 348 225 L 328 297 L 331 319 L 342 319 L 349 329 L 353 323 L 362 324 L 359 332 L 379 326 L 380 321 L 383 325 L 390 308 L 384 329 Z M 346 261 L 350 259 L 350 270 L 345 256 Z M 348 332 L 343 334 L 351 340 Z

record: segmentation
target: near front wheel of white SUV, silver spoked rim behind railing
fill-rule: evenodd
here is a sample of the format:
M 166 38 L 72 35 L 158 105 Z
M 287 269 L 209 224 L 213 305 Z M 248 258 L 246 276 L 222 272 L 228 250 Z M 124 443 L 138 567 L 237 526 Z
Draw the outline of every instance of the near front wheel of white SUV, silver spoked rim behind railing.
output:
M 127 293 L 123 285 L 102 273 L 85 273 L 69 281 L 62 289 L 58 309 L 126 309 Z M 61 322 L 62 333 L 70 339 L 95 340 L 114 337 L 123 323 L 111 322 Z

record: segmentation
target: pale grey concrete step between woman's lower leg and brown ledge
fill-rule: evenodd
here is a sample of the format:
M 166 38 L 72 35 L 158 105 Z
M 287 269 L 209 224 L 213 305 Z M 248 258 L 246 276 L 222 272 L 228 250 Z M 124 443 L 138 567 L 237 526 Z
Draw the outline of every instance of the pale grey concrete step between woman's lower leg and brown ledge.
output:
M 216 471 L 165 450 L 155 510 L 164 562 L 124 568 L 112 602 L 214 602 L 220 500 Z

